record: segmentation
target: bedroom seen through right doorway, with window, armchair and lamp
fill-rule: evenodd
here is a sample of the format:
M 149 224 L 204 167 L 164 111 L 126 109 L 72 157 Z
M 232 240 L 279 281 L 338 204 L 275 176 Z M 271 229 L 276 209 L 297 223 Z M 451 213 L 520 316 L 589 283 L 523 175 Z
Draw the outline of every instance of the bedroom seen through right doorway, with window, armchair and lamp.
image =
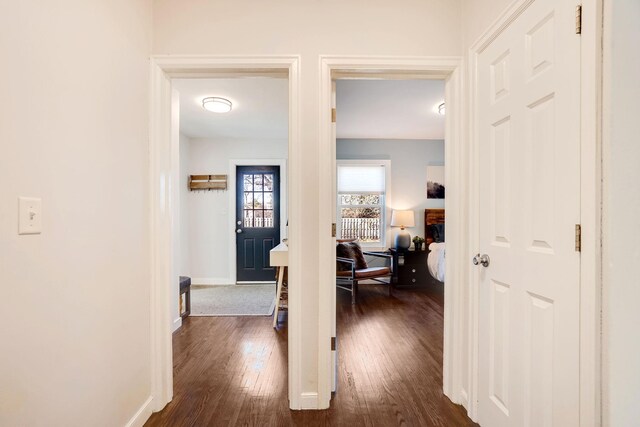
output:
M 365 385 L 402 401 L 402 391 L 384 384 L 391 376 L 421 385 L 424 399 L 412 403 L 420 408 L 443 381 L 445 82 L 354 78 L 334 87 L 335 404 L 366 405 Z M 442 399 L 449 421 L 470 422 Z

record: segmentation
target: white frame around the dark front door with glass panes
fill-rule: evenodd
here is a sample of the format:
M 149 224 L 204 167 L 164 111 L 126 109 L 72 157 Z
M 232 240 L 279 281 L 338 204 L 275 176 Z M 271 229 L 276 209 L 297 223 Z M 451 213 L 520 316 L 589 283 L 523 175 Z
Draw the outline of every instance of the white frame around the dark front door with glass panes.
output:
M 229 281 L 238 283 L 236 252 L 236 168 L 238 166 L 280 167 L 280 241 L 287 237 L 287 159 L 230 159 L 229 160 Z M 233 193 L 233 194 L 232 194 Z M 233 215 L 232 215 L 233 214 Z M 275 278 L 273 282 L 275 283 Z

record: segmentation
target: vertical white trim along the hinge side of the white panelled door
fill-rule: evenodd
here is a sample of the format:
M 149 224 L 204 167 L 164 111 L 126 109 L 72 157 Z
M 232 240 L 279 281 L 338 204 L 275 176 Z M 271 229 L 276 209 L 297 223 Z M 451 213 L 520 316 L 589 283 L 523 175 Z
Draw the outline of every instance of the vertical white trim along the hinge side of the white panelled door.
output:
M 601 425 L 603 0 L 582 0 L 580 116 L 580 426 Z

